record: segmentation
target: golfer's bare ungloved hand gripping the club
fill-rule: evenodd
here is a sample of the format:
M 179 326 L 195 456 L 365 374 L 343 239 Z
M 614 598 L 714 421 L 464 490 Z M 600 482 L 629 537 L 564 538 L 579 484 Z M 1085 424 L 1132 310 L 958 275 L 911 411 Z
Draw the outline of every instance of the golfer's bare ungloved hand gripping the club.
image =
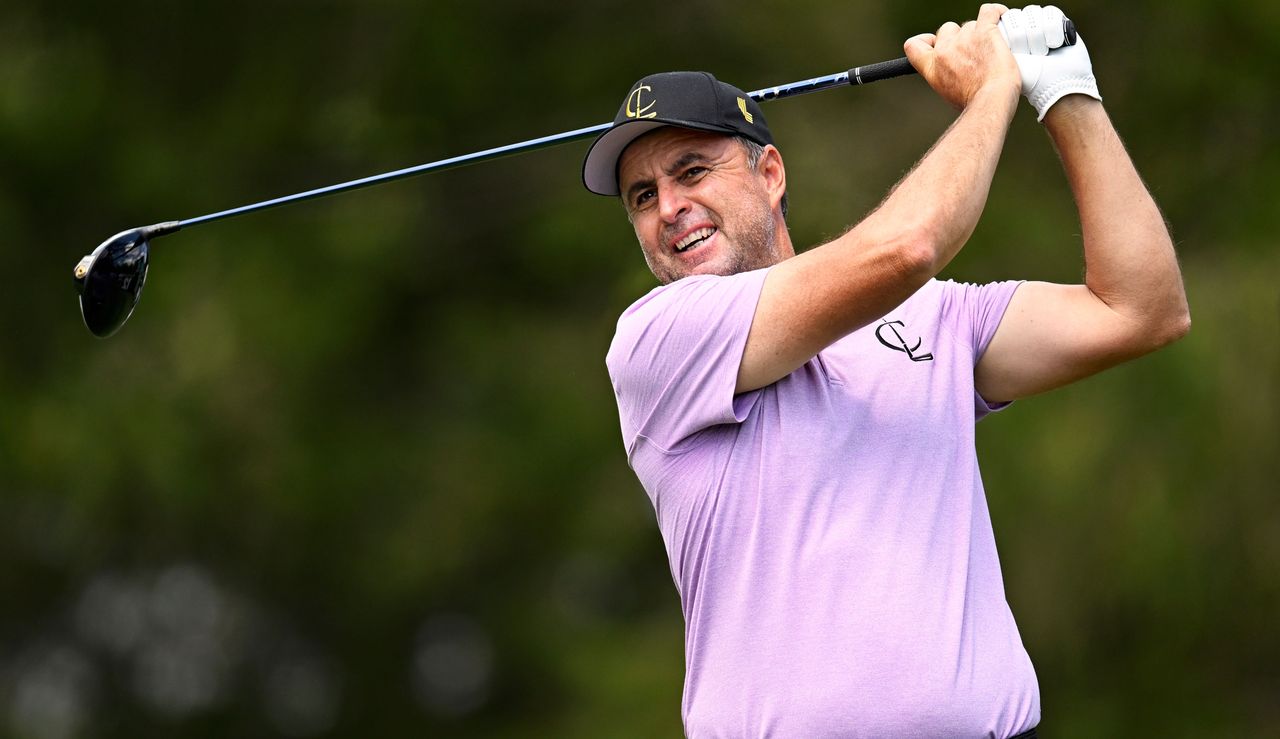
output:
M 929 87 L 957 109 L 966 108 L 984 90 L 1016 100 L 1021 76 L 996 26 L 1006 10 L 988 3 L 977 20 L 964 26 L 947 22 L 937 33 L 913 36 L 904 44 L 906 56 Z

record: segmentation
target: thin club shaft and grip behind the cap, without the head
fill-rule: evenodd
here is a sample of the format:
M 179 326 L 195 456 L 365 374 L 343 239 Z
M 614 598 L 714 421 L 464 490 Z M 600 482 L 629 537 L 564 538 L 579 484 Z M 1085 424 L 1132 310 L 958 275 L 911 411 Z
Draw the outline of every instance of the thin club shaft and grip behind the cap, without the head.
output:
M 878 79 L 888 79 L 891 77 L 900 77 L 902 74 L 914 74 L 914 73 L 915 69 L 904 56 L 901 59 L 895 59 L 892 61 L 881 61 L 878 64 L 870 64 L 867 67 L 855 67 L 854 69 L 850 69 L 847 72 L 841 72 L 838 74 L 828 74 L 826 77 L 813 77 L 810 79 L 801 79 L 800 82 L 792 82 L 790 85 L 781 85 L 777 87 L 765 87 L 762 90 L 756 90 L 755 92 L 750 92 L 749 95 L 755 101 L 764 102 L 767 100 L 794 97 L 796 95 L 805 95 L 808 92 L 819 92 L 822 90 L 831 90 L 832 87 L 842 87 L 846 85 L 867 85 L 870 82 L 876 82 Z M 266 210 L 269 207 L 278 207 L 280 205 L 288 205 L 291 202 L 301 202 L 303 200 L 314 200 L 316 197 L 324 197 L 326 195 L 349 192 L 352 190 L 360 190 L 374 184 L 381 184 L 384 182 L 404 179 L 406 177 L 416 177 L 419 174 L 426 174 L 428 172 L 440 172 L 444 169 L 453 169 L 456 166 L 465 166 L 468 164 L 477 164 L 480 161 L 489 161 L 492 159 L 499 159 L 503 156 L 512 156 L 515 154 L 525 154 L 527 151 L 547 149 L 549 146 L 559 146 L 561 143 L 570 143 L 572 141 L 580 141 L 582 138 L 590 138 L 598 136 L 599 133 L 608 129 L 611 126 L 612 123 L 589 126 L 586 128 L 566 131 L 564 133 L 556 133 L 552 136 L 543 136 L 541 138 L 531 138 L 529 141 L 521 141 L 520 143 L 508 143 L 507 146 L 485 149 L 484 151 L 476 151 L 474 154 L 463 154 L 462 156 L 452 156 L 449 159 L 440 159 L 436 161 L 429 161 L 426 164 L 419 164 L 417 166 L 407 166 L 404 169 L 397 169 L 396 172 L 374 174 L 370 177 L 362 177 L 360 179 L 352 179 L 348 182 L 340 182 L 338 184 L 330 184 L 328 187 L 317 187 L 315 190 L 298 192 L 296 195 L 285 195 L 284 197 L 275 197 L 273 200 L 264 200 L 261 202 L 242 205 L 239 207 L 232 207 L 229 210 L 220 210 L 218 213 L 210 213 L 209 215 L 200 215 L 196 218 L 188 218 L 184 220 L 175 222 L 175 228 L 168 228 L 165 232 L 169 233 L 172 231 L 178 231 L 180 228 L 188 228 L 201 223 L 221 220 L 224 218 L 243 215 L 246 213 L 253 213 L 257 210 Z

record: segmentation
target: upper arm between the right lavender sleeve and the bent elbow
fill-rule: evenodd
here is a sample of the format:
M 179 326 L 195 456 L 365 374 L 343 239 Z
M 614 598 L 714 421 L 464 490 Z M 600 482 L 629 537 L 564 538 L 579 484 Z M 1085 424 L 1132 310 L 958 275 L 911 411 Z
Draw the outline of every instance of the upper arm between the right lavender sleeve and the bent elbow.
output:
M 1083 284 L 1021 284 L 974 373 L 992 402 L 1012 401 L 1114 366 L 1142 351 L 1132 319 Z

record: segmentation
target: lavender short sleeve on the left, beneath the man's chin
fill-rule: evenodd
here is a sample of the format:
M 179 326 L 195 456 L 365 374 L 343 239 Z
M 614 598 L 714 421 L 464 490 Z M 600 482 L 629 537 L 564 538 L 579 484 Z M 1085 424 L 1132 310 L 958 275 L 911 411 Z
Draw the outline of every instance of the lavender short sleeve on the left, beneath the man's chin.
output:
M 641 437 L 678 451 L 699 430 L 746 418 L 759 391 L 733 389 L 767 275 L 689 277 L 622 314 L 605 364 L 628 457 Z

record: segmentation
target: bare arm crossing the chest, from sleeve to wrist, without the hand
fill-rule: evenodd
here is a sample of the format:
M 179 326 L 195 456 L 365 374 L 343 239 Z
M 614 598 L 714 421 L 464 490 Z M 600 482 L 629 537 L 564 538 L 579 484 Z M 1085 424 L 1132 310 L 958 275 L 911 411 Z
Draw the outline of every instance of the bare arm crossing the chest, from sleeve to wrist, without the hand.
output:
M 773 268 L 737 391 L 785 377 L 911 296 L 964 245 L 987 201 L 1018 99 L 982 95 L 872 215 Z

